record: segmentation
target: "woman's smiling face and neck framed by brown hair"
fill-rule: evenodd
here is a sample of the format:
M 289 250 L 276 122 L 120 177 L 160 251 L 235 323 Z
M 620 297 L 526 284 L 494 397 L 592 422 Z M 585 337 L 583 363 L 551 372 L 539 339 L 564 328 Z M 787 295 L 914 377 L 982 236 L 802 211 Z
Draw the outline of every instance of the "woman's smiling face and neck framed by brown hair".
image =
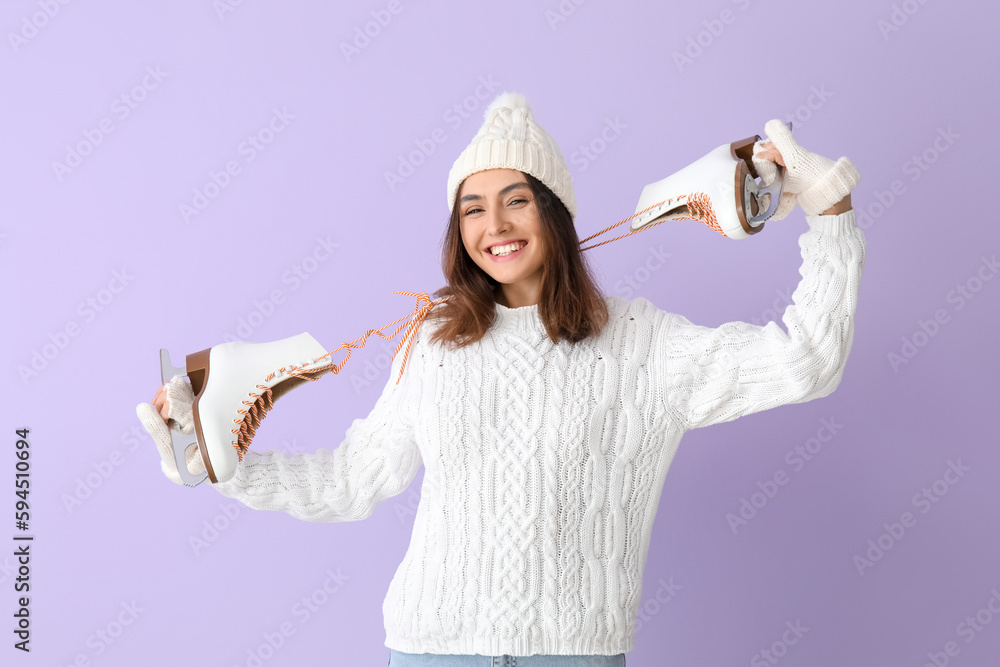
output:
M 535 196 L 524 174 L 514 169 L 476 172 L 462 183 L 455 205 L 465 250 L 502 285 L 504 305 L 537 304 L 546 248 Z

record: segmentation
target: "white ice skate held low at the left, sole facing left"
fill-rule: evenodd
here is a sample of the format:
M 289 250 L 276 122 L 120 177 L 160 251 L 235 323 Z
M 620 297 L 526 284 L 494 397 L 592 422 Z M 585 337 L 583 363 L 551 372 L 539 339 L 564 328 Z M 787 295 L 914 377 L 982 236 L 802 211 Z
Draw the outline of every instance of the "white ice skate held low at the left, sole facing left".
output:
M 206 477 L 213 483 L 232 477 L 274 401 L 333 369 L 327 351 L 308 333 L 270 343 L 223 343 L 187 355 L 185 366 L 175 368 L 169 353 L 160 350 L 163 382 L 187 375 L 194 392 L 194 436 L 204 473 L 193 475 L 187 468 L 192 436 L 170 430 L 177 472 L 187 486 Z

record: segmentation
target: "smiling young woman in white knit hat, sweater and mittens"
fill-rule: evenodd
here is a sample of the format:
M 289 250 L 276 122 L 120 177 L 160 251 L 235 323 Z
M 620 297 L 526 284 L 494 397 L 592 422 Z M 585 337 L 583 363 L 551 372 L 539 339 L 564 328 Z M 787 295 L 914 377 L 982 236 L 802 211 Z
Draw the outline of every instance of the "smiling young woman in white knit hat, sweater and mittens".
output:
M 804 151 L 777 121 L 768 131 L 755 163 L 785 165 L 778 215 L 798 201 L 808 223 L 787 332 L 702 327 L 643 298 L 602 297 L 562 154 L 523 96 L 504 93 L 449 175 L 448 285 L 436 295 L 448 298 L 417 330 L 402 379 L 397 355 L 336 449 L 250 450 L 215 488 L 255 509 L 354 521 L 423 465 L 383 603 L 390 665 L 624 665 L 682 435 L 826 396 L 851 348 L 857 172 Z M 175 378 L 140 416 L 184 428 L 185 401 Z M 169 443 L 161 453 L 175 477 Z

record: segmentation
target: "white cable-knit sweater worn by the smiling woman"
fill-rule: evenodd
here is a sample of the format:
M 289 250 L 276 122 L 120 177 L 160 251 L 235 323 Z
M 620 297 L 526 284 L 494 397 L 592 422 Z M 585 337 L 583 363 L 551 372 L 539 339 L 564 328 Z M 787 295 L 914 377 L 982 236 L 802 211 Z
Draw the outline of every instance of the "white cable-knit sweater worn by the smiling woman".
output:
M 759 327 L 692 324 L 607 297 L 599 337 L 553 344 L 537 306 L 497 305 L 457 351 L 422 325 L 371 414 L 333 450 L 251 450 L 216 484 L 254 509 L 357 521 L 425 466 L 413 535 L 383 602 L 410 653 L 633 648 L 667 469 L 685 431 L 826 396 L 851 349 L 865 243 L 854 211 L 807 216 L 802 280 Z

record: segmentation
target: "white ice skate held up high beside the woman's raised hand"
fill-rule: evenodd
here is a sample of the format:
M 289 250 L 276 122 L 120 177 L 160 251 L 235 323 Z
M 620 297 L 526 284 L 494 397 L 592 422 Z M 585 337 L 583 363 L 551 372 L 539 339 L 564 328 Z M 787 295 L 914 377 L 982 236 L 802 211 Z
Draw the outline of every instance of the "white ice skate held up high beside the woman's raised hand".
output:
M 753 146 L 758 141 L 760 136 L 755 134 L 723 144 L 680 171 L 647 185 L 635 208 L 639 215 L 632 220 L 632 231 L 664 220 L 686 219 L 703 222 L 731 239 L 745 239 L 761 231 L 764 221 L 778 208 L 784 169 L 778 167 L 778 176 L 767 187 L 757 183 Z M 770 195 L 766 210 L 761 204 L 764 195 Z

